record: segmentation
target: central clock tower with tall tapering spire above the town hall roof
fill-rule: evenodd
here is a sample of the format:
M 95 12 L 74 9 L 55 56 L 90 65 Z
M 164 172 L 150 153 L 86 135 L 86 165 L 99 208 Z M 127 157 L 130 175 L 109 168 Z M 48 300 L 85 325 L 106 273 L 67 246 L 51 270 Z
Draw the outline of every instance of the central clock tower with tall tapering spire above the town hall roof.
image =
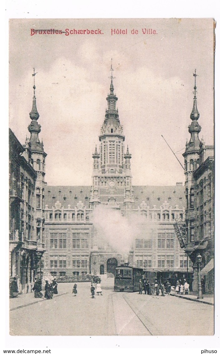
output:
M 112 71 L 111 67 L 111 71 Z M 90 207 L 97 204 L 112 206 L 112 200 L 123 215 L 131 211 L 133 200 L 131 154 L 128 147 L 125 150 L 125 136 L 121 126 L 117 97 L 114 93 L 113 77 L 111 75 L 110 93 L 106 97 L 108 108 L 99 135 L 99 152 L 95 147 L 93 157 L 92 188 Z

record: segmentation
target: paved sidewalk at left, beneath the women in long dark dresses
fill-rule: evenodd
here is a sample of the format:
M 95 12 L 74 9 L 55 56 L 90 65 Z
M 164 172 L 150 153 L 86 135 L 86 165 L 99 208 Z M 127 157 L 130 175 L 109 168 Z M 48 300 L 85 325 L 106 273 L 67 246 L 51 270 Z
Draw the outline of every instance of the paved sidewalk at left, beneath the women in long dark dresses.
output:
M 59 286 L 58 294 L 53 295 L 53 298 L 55 298 L 57 296 L 64 295 L 67 293 L 64 289 L 62 289 L 63 288 L 62 285 L 60 283 L 58 284 L 58 286 Z M 44 295 L 44 291 L 41 291 L 41 292 Z M 35 298 L 34 292 L 29 292 L 27 294 L 18 295 L 18 297 L 10 298 L 9 299 L 9 308 L 10 308 L 10 311 L 12 311 L 12 310 L 16 310 L 16 309 L 19 309 L 19 308 L 22 308 L 25 306 L 29 306 L 29 305 L 35 304 L 40 301 L 45 301 L 45 300 L 46 300 L 45 297 Z

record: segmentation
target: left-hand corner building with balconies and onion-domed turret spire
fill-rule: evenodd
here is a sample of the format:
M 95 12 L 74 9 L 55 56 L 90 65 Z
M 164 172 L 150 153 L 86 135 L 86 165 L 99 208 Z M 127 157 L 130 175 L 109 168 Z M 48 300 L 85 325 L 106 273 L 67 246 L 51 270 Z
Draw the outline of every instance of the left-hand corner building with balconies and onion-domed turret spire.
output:
M 46 153 L 38 137 L 38 118 L 34 92 L 30 139 L 22 146 L 9 130 L 10 277 L 16 276 L 19 292 L 31 291 L 44 253 Z

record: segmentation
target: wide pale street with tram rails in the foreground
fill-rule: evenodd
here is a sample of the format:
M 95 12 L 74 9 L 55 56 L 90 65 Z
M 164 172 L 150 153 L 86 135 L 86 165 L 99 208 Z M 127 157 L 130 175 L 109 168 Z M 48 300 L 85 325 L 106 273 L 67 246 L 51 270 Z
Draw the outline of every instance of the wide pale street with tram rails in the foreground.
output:
M 214 306 L 210 304 L 175 296 L 114 292 L 112 279 L 102 282 L 103 296 L 95 295 L 94 299 L 90 283 L 79 283 L 76 297 L 72 288 L 72 283 L 58 284 L 58 295 L 52 300 L 34 299 L 33 293 L 10 299 L 10 334 L 204 336 L 214 333 Z

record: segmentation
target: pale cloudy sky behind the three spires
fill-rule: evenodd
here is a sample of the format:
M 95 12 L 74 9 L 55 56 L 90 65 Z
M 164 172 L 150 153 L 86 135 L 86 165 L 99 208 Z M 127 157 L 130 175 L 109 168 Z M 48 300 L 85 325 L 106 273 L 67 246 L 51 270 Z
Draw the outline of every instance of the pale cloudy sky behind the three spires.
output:
M 31 36 L 31 28 L 100 29 L 103 34 Z M 112 35 L 111 29 L 127 29 L 127 34 Z M 184 164 L 196 68 L 199 136 L 213 144 L 213 33 L 212 19 L 11 20 L 9 126 L 23 144 L 29 136 L 35 68 L 48 185 L 91 184 L 111 58 L 133 184 L 184 182 L 184 171 L 161 135 Z

